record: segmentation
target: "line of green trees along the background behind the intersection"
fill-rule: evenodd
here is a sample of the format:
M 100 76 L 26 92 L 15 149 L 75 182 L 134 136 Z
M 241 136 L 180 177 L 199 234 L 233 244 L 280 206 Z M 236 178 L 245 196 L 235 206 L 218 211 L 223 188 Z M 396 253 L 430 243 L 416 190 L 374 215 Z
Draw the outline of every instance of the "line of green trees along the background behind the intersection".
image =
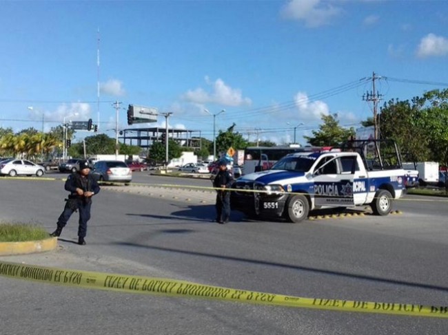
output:
M 407 161 L 434 161 L 448 165 L 448 89 L 427 91 L 422 96 L 411 100 L 391 99 L 384 103 L 378 113 L 380 139 L 395 140 Z M 355 136 L 355 129 L 342 127 L 338 114 L 321 116 L 322 123 L 312 136 L 304 136 L 307 144 L 312 146 L 338 147 L 342 142 Z M 373 118 L 361 122 L 363 126 L 374 124 Z M 235 124 L 225 130 L 218 131 L 216 151 L 224 153 L 230 147 L 245 149 L 256 144 L 264 147 L 276 145 L 270 141 L 248 142 L 241 133 L 235 131 Z M 68 138 L 74 131 L 68 129 Z M 206 158 L 213 152 L 213 141 L 201 139 L 201 148 L 183 147 L 179 142 L 169 139 L 168 158 L 179 158 L 182 151 L 195 151 L 200 158 Z M 115 140 L 105 134 L 85 138 L 87 155 L 115 153 Z M 44 153 L 61 155 L 63 150 L 63 127 L 51 129 L 49 133 L 41 133 L 34 128 L 14 133 L 12 129 L 0 128 L 0 156 L 17 156 L 35 160 Z M 140 147 L 119 143 L 119 152 L 125 155 L 145 155 L 156 162 L 165 161 L 165 144 L 154 141 L 147 151 Z M 72 144 L 68 149 L 72 157 L 84 155 L 82 142 Z

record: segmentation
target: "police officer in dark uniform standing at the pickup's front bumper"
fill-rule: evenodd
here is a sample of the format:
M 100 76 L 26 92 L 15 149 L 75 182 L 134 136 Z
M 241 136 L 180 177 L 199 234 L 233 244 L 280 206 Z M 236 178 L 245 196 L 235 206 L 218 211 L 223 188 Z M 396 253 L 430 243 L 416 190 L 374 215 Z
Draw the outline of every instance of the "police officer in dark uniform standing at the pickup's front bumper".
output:
M 230 191 L 222 188 L 231 188 L 233 182 L 234 177 L 232 172 L 227 170 L 227 162 L 220 160 L 219 171 L 213 180 L 213 186 L 216 188 L 216 222 L 218 224 L 227 224 L 230 219 Z

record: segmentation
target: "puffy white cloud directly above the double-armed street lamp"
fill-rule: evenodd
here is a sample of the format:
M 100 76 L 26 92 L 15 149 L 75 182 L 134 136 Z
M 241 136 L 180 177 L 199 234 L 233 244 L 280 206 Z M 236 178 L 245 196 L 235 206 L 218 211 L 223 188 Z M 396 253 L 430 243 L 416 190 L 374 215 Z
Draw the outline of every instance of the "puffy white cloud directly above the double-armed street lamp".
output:
M 241 89 L 234 89 L 226 85 L 221 78 L 216 79 L 214 82 L 210 82 L 209 78 L 205 77 L 205 82 L 212 87 L 212 91 L 205 91 L 205 89 L 201 87 L 193 90 L 190 89 L 182 95 L 183 100 L 202 105 L 214 103 L 217 105 L 233 107 L 252 104 L 250 98 L 243 98 Z

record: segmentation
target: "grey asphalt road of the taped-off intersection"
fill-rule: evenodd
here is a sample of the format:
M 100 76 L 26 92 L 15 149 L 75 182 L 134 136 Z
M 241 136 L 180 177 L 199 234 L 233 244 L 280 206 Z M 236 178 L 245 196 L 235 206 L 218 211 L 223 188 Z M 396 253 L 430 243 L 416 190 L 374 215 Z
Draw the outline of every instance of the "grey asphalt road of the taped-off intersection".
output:
M 210 186 L 139 177 L 146 184 Z M 86 246 L 74 244 L 75 214 L 58 250 L 1 259 L 312 298 L 448 305 L 448 206 L 440 199 L 405 197 L 396 204 L 403 214 L 387 217 L 286 224 L 232 213 L 230 224 L 218 225 L 210 221 L 210 193 L 153 189 L 149 195 L 103 188 L 94 198 Z M 64 197 L 60 181 L 0 179 L 0 219 L 51 231 Z M 3 277 L 0 299 L 0 334 L 448 332 L 447 319 L 121 294 Z

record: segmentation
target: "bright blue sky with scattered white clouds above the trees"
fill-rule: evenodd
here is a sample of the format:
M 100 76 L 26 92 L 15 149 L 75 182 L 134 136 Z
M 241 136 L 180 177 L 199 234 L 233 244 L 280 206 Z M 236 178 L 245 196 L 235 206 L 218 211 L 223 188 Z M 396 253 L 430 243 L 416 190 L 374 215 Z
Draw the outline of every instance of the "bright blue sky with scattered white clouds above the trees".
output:
M 446 0 L 0 0 L 0 16 L 0 126 L 14 131 L 65 116 L 114 137 L 119 101 L 209 139 L 204 109 L 225 109 L 216 133 L 235 123 L 282 144 L 295 127 L 305 144 L 322 113 L 355 128 L 373 115 L 373 72 L 380 105 L 448 87 Z M 155 125 L 165 118 L 132 127 Z

